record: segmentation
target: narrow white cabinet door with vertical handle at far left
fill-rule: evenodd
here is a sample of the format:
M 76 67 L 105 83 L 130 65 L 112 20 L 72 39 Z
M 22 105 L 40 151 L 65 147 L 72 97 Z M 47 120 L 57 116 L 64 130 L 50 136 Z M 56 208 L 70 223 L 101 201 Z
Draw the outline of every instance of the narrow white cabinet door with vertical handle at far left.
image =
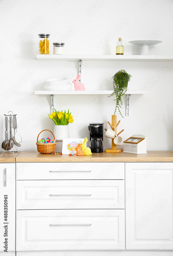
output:
M 0 164 L 0 188 L 0 251 L 14 251 L 15 163 Z M 7 242 L 7 247 L 4 247 L 4 242 Z

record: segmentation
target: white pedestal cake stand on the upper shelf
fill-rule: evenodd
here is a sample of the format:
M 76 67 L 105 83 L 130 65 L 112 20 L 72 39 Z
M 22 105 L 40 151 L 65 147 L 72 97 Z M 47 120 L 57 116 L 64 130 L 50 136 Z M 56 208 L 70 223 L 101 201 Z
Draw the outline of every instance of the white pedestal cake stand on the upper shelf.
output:
M 140 54 L 139 55 L 150 55 L 149 53 L 149 45 L 157 45 L 162 43 L 163 41 L 156 41 L 156 40 L 135 40 L 129 41 L 132 45 L 142 45 L 140 47 Z

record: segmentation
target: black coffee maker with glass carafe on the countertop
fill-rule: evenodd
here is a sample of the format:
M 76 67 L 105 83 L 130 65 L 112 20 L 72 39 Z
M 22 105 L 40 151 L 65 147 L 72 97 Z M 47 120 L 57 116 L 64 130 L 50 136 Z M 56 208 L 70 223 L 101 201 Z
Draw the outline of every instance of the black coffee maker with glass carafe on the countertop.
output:
M 103 123 L 90 123 L 90 148 L 92 153 L 103 152 Z

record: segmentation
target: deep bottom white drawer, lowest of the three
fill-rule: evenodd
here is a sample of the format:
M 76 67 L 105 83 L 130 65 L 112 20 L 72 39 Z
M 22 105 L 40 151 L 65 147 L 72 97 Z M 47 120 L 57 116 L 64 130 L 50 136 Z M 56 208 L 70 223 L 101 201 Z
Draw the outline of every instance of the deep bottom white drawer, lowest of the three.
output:
M 17 251 L 125 249 L 125 210 L 17 210 L 16 218 Z

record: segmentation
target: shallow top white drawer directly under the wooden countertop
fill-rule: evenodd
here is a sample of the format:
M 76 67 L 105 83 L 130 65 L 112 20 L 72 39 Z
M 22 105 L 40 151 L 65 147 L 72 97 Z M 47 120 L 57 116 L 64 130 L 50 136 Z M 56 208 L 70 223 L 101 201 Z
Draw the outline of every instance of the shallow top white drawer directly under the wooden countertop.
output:
M 124 163 L 17 163 L 17 180 L 124 179 Z

